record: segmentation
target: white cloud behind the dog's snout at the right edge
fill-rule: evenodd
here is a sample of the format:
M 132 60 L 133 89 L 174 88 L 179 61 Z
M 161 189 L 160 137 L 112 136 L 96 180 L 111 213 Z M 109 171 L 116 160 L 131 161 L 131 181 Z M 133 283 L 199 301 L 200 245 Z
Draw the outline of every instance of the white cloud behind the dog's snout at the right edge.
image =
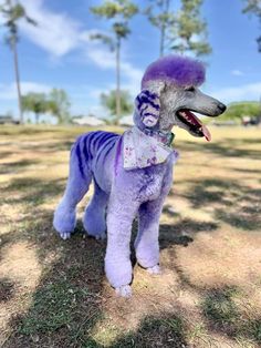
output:
M 261 82 L 221 89 L 212 92 L 211 95 L 227 103 L 242 100 L 260 100 Z

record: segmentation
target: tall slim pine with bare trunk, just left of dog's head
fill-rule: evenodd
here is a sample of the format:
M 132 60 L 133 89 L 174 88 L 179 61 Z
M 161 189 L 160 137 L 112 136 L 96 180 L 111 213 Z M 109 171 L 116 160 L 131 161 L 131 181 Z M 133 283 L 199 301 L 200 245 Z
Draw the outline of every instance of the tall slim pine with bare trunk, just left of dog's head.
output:
M 105 0 L 103 4 L 92 7 L 91 11 L 106 20 L 112 20 L 112 34 L 97 33 L 91 38 L 100 40 L 108 45 L 116 54 L 116 115 L 121 116 L 121 49 L 122 40 L 126 39 L 129 33 L 129 20 L 138 12 L 138 8 L 130 0 Z M 106 59 L 106 58 L 105 58 Z

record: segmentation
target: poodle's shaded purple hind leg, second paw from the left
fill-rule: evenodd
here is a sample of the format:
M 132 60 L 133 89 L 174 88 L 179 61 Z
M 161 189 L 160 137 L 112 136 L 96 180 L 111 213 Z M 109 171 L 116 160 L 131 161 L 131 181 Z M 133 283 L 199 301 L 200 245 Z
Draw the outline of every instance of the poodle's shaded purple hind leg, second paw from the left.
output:
M 108 195 L 95 183 L 94 195 L 85 209 L 83 225 L 87 234 L 96 239 L 104 239 L 106 237 L 105 212 L 107 201 Z

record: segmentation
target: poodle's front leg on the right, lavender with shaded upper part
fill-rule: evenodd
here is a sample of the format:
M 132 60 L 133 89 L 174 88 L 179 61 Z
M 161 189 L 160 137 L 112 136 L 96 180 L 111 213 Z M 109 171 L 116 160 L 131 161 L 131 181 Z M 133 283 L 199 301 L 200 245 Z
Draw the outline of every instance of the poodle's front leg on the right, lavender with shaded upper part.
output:
M 138 264 L 152 274 L 159 274 L 159 217 L 164 199 L 146 202 L 138 211 L 138 235 L 135 240 Z

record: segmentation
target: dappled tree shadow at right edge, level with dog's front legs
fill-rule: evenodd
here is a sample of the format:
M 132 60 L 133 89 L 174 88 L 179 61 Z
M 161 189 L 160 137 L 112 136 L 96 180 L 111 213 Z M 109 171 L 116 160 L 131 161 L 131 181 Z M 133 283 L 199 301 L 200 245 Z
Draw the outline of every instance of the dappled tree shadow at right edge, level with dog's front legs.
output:
M 215 221 L 244 231 L 261 228 L 260 188 L 229 180 L 211 178 L 194 183 L 181 196 L 187 198 L 194 208 L 211 206 Z

